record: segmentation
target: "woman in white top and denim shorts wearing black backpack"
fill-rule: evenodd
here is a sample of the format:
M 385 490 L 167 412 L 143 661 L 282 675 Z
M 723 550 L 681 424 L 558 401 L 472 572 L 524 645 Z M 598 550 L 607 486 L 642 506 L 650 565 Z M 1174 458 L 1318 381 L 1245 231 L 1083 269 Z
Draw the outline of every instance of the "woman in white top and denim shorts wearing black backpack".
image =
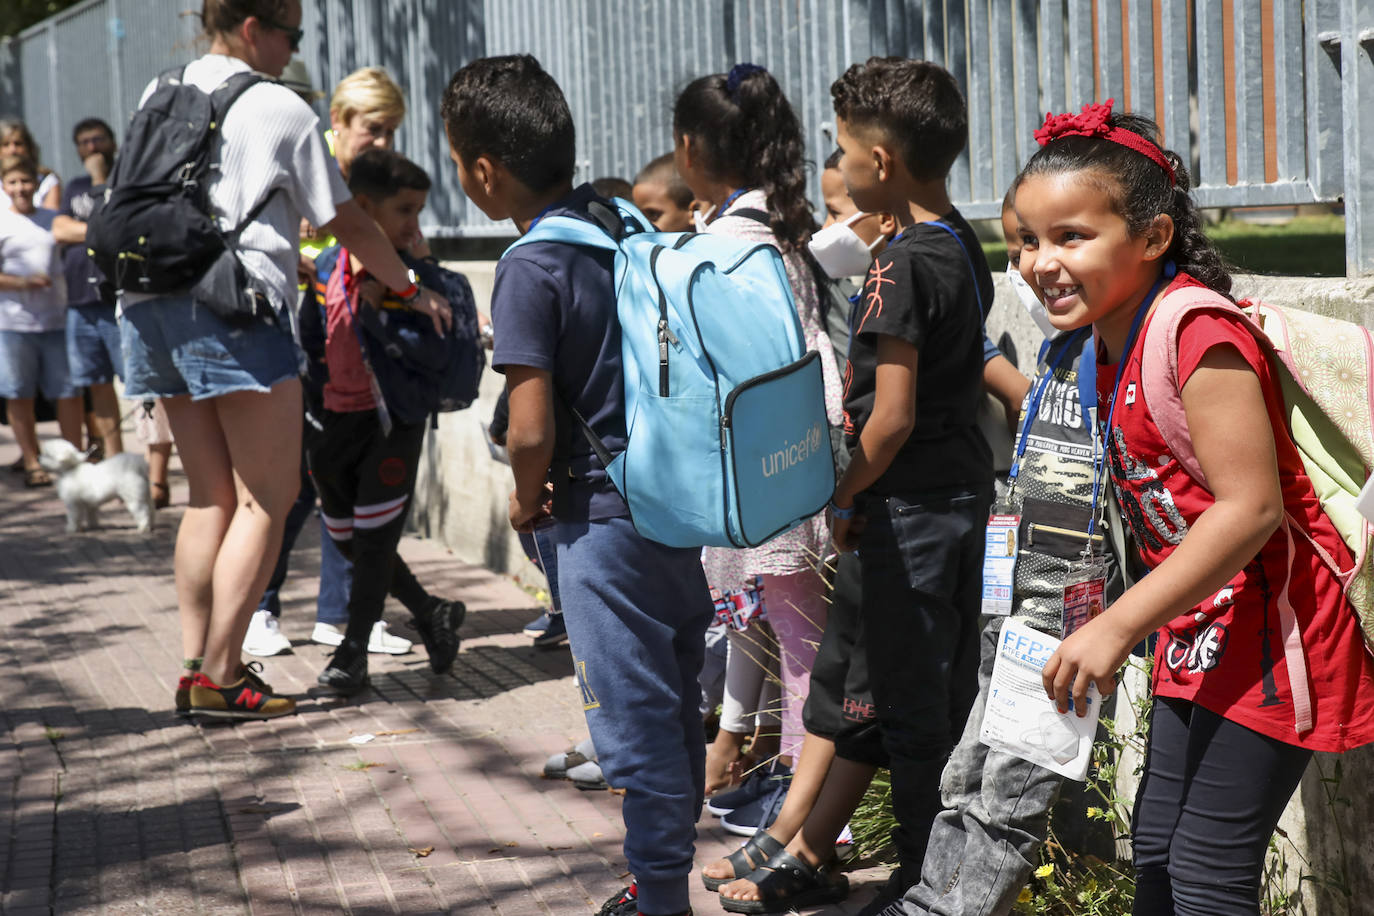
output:
M 148 108 L 154 96 L 174 104 L 169 91 L 213 93 L 239 73 L 280 74 L 302 36 L 298 0 L 205 0 L 201 16 L 209 54 L 176 74 L 170 89 L 166 80 L 151 84 L 143 99 Z M 139 148 L 140 115 L 126 154 Z M 191 490 L 176 547 L 185 659 L 177 711 L 271 718 L 293 713 L 295 702 L 249 670 L 240 647 L 300 485 L 301 385 L 291 328 L 301 217 L 348 244 L 436 327 L 447 325 L 451 313 L 441 297 L 418 287 L 353 203 L 315 113 L 291 89 L 251 82 L 216 129 L 218 170 L 207 183 L 206 209 L 234 229 L 227 231 L 234 257 L 216 266 L 227 264 L 228 276 L 246 279 L 253 293 L 242 297 L 243 286 L 232 282 L 216 287 L 214 269 L 187 291 L 140 295 L 126 283 L 120 297 L 125 397 L 164 398 Z M 129 165 L 126 172 L 137 170 Z M 115 192 L 120 172 L 117 165 Z

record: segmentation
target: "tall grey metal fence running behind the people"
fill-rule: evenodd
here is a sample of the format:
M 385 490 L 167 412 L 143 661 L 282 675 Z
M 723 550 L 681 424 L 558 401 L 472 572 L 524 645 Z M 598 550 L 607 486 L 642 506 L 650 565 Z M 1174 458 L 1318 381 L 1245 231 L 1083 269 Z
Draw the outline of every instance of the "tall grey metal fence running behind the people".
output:
M 122 125 L 147 81 L 196 54 L 195 0 L 88 0 L 0 49 L 0 114 L 25 117 L 59 173 L 70 126 Z M 969 100 L 949 177 L 995 217 L 1044 111 L 1113 98 L 1160 121 L 1204 206 L 1337 202 L 1349 273 L 1374 273 L 1374 0 L 304 0 L 317 85 L 385 66 L 411 111 L 398 147 L 437 184 L 433 236 L 506 235 L 458 187 L 437 104 L 455 69 L 528 51 L 565 88 L 578 176 L 632 177 L 672 146 L 673 93 L 752 60 L 782 82 L 820 162 L 830 82 L 870 55 L 927 58 Z M 326 114 L 320 103 L 319 110 Z M 820 202 L 813 179 L 812 192 Z

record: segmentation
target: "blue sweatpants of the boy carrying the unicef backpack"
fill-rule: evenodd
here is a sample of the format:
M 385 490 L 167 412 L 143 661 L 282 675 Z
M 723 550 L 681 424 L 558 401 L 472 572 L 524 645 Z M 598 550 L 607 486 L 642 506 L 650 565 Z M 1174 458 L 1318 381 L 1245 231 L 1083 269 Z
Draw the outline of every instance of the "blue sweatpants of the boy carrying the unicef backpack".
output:
M 701 551 L 643 538 L 627 518 L 559 522 L 558 591 L 587 728 L 625 791 L 625 858 L 643 913 L 688 908 L 706 781 L 697 674 L 714 615 Z

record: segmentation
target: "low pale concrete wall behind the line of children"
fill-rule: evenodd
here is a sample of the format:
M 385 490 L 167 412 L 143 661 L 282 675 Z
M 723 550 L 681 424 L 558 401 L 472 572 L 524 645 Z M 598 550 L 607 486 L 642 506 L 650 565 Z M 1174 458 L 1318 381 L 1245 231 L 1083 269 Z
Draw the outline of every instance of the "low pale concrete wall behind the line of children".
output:
M 488 310 L 496 264 L 464 261 L 449 266 L 467 275 L 478 306 Z M 996 282 L 998 298 L 988 328 L 1021 369 L 1033 374 L 1040 334 L 1017 304 L 1006 277 L 998 276 Z M 1374 327 L 1374 277 L 1242 276 L 1235 293 Z M 438 428 L 429 433 L 411 525 L 448 544 L 463 560 L 511 573 L 528 585 L 541 585 L 506 520 L 513 485 L 510 468 L 489 457 L 480 427 L 480 422 L 491 419 L 503 383 L 500 375 L 488 372 L 481 400 L 467 411 L 444 415 Z M 1138 678 L 1132 687 L 1143 691 L 1146 684 Z M 1134 762 L 1123 765 L 1123 770 L 1129 769 Z M 1237 773 L 1237 779 L 1245 775 Z M 1134 797 L 1134 783 L 1127 775 L 1123 797 Z M 1374 823 L 1374 794 L 1366 788 L 1370 784 L 1374 784 L 1374 747 L 1344 757 L 1320 754 L 1308 769 L 1283 814 L 1281 827 L 1287 839 L 1276 839 L 1286 867 L 1275 879 L 1301 894 L 1300 906 L 1290 912 L 1308 916 L 1374 912 L 1374 904 L 1369 904 L 1374 901 L 1374 843 L 1358 839 Z

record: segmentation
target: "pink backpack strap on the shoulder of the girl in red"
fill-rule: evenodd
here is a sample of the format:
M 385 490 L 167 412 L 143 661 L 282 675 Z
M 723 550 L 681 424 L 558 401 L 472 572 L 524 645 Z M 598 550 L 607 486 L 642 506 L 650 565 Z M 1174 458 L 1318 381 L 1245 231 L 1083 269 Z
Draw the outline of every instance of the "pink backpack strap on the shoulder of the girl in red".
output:
M 1198 464 L 1189 437 L 1187 416 L 1183 411 L 1183 386 L 1179 383 L 1179 330 L 1183 320 L 1197 312 L 1220 312 L 1238 317 L 1265 352 L 1272 353 L 1265 334 L 1245 312 L 1215 290 L 1187 286 L 1167 294 L 1154 306 L 1145 330 L 1140 352 L 1140 387 L 1150 416 L 1164 437 L 1169 452 L 1179 460 L 1189 477 L 1206 486 L 1206 475 Z

